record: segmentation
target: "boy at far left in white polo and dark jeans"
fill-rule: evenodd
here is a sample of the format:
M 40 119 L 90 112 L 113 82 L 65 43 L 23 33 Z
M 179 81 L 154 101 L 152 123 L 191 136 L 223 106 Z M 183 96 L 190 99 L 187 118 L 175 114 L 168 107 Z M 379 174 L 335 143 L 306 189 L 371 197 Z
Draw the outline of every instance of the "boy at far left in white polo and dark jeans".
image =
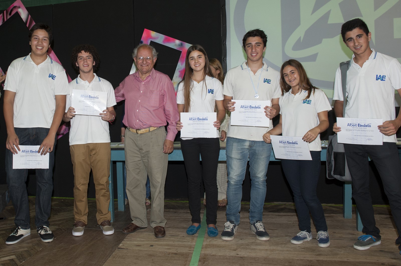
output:
M 49 229 L 56 133 L 68 94 L 63 67 L 47 56 L 53 36 L 49 26 L 37 23 L 29 31 L 31 52 L 14 60 L 4 83 L 4 120 L 7 127 L 6 173 L 10 199 L 15 209 L 16 228 L 6 244 L 30 235 L 26 177 L 28 169 L 13 169 L 12 156 L 19 145 L 40 145 L 41 155 L 49 153 L 49 168 L 36 169 L 36 231 L 43 242 L 53 241 Z

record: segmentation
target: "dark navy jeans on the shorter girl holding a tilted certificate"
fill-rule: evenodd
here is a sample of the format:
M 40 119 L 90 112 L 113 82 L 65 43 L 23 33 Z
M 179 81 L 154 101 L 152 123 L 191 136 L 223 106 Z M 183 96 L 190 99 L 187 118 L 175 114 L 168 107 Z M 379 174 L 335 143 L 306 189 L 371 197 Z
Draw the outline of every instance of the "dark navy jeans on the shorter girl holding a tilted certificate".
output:
M 320 151 L 311 151 L 310 155 L 312 161 L 281 160 L 281 165 L 294 194 L 300 230 L 311 232 L 310 212 L 316 232 L 327 231 L 322 204 L 316 195 L 320 174 Z

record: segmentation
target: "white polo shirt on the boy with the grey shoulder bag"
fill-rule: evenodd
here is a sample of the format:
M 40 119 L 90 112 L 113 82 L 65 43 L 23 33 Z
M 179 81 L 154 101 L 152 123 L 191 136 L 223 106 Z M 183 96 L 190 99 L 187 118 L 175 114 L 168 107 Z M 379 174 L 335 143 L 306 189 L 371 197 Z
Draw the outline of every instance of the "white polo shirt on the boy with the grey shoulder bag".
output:
M 394 90 L 401 88 L 401 64 L 391 56 L 372 51 L 362 67 L 354 62 L 352 55 L 344 117 L 394 120 Z M 340 67 L 336 71 L 333 100 L 343 101 Z M 397 137 L 383 135 L 383 142 L 397 142 Z

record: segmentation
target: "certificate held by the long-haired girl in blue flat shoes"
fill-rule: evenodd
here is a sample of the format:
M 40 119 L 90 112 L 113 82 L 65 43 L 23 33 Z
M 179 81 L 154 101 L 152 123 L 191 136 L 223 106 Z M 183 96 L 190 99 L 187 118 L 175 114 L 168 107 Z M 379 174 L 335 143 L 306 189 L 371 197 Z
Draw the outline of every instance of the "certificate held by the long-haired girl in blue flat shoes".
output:
M 219 133 L 213 123 L 216 113 L 181 113 L 181 137 L 217 138 Z

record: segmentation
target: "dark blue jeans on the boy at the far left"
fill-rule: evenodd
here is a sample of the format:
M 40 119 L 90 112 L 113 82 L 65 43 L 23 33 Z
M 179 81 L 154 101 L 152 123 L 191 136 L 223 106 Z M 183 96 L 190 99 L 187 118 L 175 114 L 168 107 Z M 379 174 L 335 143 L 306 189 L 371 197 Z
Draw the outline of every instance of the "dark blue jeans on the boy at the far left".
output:
M 14 128 L 20 145 L 41 145 L 49 133 L 48 128 Z M 56 146 L 56 138 L 54 145 Z M 36 169 L 36 201 L 35 210 L 36 228 L 49 226 L 51 209 L 51 195 L 53 193 L 53 165 L 54 147 L 49 153 L 49 169 Z M 14 223 L 22 229 L 30 228 L 28 192 L 26 191 L 26 177 L 28 169 L 12 169 L 12 153 L 6 149 L 6 173 L 10 199 L 15 209 Z

